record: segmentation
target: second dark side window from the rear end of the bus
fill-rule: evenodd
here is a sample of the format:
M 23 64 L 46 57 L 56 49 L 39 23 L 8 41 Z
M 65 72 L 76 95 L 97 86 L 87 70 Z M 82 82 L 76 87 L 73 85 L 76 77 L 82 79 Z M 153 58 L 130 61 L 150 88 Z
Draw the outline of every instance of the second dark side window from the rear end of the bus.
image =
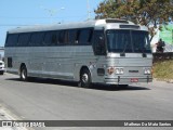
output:
M 18 47 L 27 47 L 29 43 L 30 34 L 21 34 L 18 37 Z

